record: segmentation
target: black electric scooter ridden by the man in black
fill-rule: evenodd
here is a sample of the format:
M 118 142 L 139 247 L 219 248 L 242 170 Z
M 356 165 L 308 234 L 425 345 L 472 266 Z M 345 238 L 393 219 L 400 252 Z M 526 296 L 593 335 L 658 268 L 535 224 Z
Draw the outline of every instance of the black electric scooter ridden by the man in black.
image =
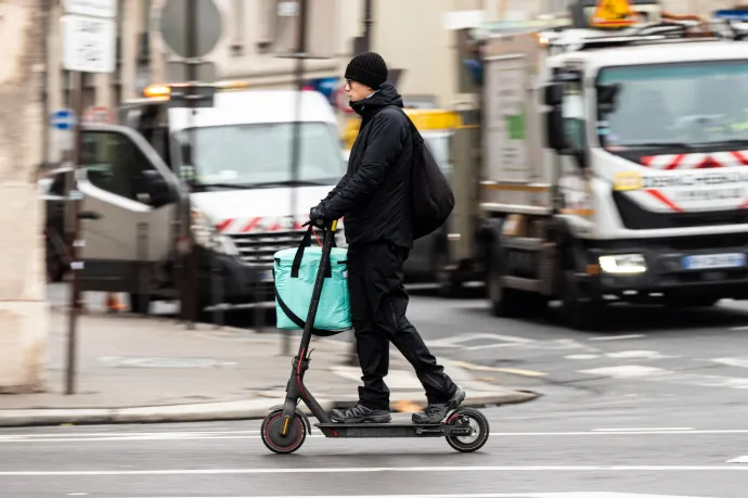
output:
M 310 221 L 305 224 L 309 225 Z M 309 314 L 304 324 L 298 354 L 292 361 L 292 372 L 286 385 L 284 405 L 271 408 L 262 421 L 260 433 L 262 443 L 275 454 L 293 454 L 301 447 L 311 424 L 307 416 L 299 410 L 299 401 L 309 408 L 319 423 L 314 424 L 325 437 L 364 438 L 364 437 L 446 437 L 447 443 L 461 452 L 473 452 L 480 449 L 489 436 L 489 424 L 486 417 L 473 408 L 456 408 L 444 420 L 436 424 L 415 423 L 336 423 L 322 409 L 314 396 L 304 385 L 304 374 L 309 369 L 312 328 L 320 304 L 325 271 L 330 265 L 330 254 L 335 241 L 337 220 L 325 224 L 322 259 L 312 288 Z

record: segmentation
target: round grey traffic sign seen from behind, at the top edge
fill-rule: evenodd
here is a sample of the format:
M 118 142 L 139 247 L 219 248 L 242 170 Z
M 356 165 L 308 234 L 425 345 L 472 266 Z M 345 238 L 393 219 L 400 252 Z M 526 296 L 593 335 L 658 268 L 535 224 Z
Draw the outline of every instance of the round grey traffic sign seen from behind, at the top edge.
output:
M 202 58 L 210 52 L 221 38 L 221 13 L 212 0 L 196 0 L 195 53 L 190 53 L 188 36 L 191 34 L 184 0 L 168 0 L 160 11 L 159 28 L 164 43 L 181 58 Z

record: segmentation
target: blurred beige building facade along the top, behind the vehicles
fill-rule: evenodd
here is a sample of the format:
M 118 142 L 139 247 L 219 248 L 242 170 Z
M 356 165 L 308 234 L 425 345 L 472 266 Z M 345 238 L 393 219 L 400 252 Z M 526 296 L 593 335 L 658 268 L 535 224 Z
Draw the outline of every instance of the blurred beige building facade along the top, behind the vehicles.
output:
M 62 0 L 46 0 L 46 92 L 48 115 L 70 107 L 69 75 L 61 64 L 59 18 Z M 313 22 L 310 39 L 324 40 L 325 59 L 304 63 L 307 78 L 341 77 L 357 38 L 365 31 L 366 0 L 308 0 Z M 564 11 L 569 0 L 370 0 L 370 49 L 382 53 L 400 92 L 411 102 L 452 106 L 462 100 L 459 88 L 456 37 L 448 29 L 462 14 L 474 22 L 533 18 Z M 220 79 L 242 79 L 256 88 L 293 88 L 296 62 L 279 58 L 272 42 L 286 36 L 273 29 L 279 0 L 214 0 L 222 31 L 204 60 L 216 65 Z M 739 0 L 663 0 L 674 13 L 710 12 L 734 7 Z M 159 12 L 166 0 L 118 0 L 117 65 L 112 75 L 85 76 L 85 107 L 99 106 L 115 115 L 119 102 L 138 98 L 149 84 L 169 80 L 171 54 L 159 31 Z M 99 114 L 106 116 L 104 111 Z M 345 113 L 341 113 L 345 115 Z M 43 156 L 56 163 L 69 154 L 69 133 L 43 130 Z

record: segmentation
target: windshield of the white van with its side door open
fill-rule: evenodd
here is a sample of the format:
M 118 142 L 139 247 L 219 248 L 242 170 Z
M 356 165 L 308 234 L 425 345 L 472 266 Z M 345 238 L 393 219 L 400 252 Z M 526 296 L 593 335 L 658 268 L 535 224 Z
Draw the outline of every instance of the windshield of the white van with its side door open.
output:
M 292 186 L 293 180 L 301 184 L 336 183 L 345 173 L 344 162 L 335 128 L 326 123 L 300 124 L 298 176 L 293 178 L 295 126 L 221 125 L 180 130 L 175 137 L 181 145 L 191 144 L 188 166 L 194 167 L 198 186 Z

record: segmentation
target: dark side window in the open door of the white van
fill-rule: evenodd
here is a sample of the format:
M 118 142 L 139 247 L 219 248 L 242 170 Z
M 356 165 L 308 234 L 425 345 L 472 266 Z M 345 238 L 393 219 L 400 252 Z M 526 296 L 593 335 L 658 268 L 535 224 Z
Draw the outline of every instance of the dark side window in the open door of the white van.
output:
M 153 165 L 130 139 L 111 131 L 85 131 L 82 166 L 95 187 L 138 201 L 145 192 L 143 171 Z

